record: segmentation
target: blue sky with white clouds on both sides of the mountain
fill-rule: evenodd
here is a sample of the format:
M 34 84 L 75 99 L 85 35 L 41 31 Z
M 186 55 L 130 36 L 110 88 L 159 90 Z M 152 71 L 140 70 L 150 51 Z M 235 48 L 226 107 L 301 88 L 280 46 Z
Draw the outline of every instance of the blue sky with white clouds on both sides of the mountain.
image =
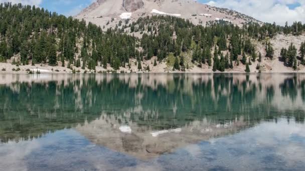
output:
M 64 15 L 76 15 L 94 0 L 0 0 L 35 4 Z M 284 25 L 305 22 L 305 0 L 198 0 L 213 6 L 237 10 L 264 22 Z

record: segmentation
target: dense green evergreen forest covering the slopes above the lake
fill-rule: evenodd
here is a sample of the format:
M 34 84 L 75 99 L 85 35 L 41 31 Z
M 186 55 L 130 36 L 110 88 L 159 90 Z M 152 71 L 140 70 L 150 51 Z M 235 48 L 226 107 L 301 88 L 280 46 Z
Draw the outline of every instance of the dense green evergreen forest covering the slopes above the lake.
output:
M 173 16 L 147 16 L 137 21 L 124 22 L 104 29 L 84 20 L 74 19 L 30 5 L 0 4 L 0 61 L 20 55 L 17 64 L 48 63 L 58 65 L 69 61 L 66 67 L 95 69 L 107 63 L 113 69 L 130 66 L 130 58 L 137 61 L 157 56 L 159 61 L 170 53 L 175 56 L 174 69 L 185 70 L 181 52 L 191 52 L 192 62 L 206 63 L 213 70 L 233 68 L 233 62 L 247 65 L 273 58 L 274 50 L 267 38 L 277 33 L 300 35 L 305 24 L 291 26 L 275 23 L 246 23 L 242 27 L 226 21 L 209 22 L 206 26 L 194 25 L 189 20 Z M 140 36 L 134 36 L 135 33 Z M 252 40 L 265 42 L 265 54 L 258 53 Z M 299 59 L 297 59 L 299 54 Z M 291 44 L 281 50 L 281 59 L 296 69 L 300 61 L 305 64 L 305 42 L 300 49 Z M 242 56 L 241 60 L 239 56 Z M 249 56 L 249 57 L 247 57 Z M 141 69 L 140 62 L 138 68 Z M 156 64 L 156 61 L 155 61 Z M 127 66 L 126 66 L 127 65 Z M 259 66 L 258 66 L 259 67 Z

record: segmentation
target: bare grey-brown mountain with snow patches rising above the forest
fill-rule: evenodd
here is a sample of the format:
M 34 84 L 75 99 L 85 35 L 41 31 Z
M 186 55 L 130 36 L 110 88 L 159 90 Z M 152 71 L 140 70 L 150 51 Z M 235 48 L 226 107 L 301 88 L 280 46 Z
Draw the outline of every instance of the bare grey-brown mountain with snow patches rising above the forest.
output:
M 97 25 L 115 26 L 119 20 L 151 15 L 172 15 L 189 19 L 194 24 L 226 20 L 241 25 L 244 22 L 260 22 L 240 12 L 202 4 L 194 0 L 97 0 L 81 11 L 76 18 Z

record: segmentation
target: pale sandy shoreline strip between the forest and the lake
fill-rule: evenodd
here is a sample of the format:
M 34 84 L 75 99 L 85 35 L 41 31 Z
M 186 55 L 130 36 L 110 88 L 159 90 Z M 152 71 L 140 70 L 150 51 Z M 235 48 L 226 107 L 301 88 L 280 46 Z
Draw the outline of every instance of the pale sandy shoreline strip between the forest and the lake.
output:
M 300 67 L 298 70 L 293 70 L 290 67 L 279 67 L 279 68 L 272 68 L 268 70 L 263 70 L 261 72 L 258 72 L 257 69 L 255 69 L 256 64 L 252 64 L 250 66 L 250 72 L 245 72 L 243 70 L 243 65 L 240 64 L 239 66 L 236 66 L 234 69 L 228 69 L 224 72 L 220 71 L 213 71 L 211 66 L 204 65 L 203 67 L 193 66 L 190 69 L 186 69 L 186 71 L 173 71 L 172 69 L 169 69 L 167 64 L 165 62 L 158 63 L 157 66 L 153 66 L 150 64 L 151 61 L 145 61 L 143 62 L 143 65 L 149 65 L 150 71 L 147 70 L 138 70 L 136 66 L 131 66 L 130 68 L 127 67 L 120 67 L 118 70 L 113 70 L 112 67 L 108 64 L 107 69 L 96 66 L 95 71 L 89 70 L 88 68 L 82 69 L 81 67 L 73 67 L 75 69 L 75 74 L 80 73 L 305 73 L 305 67 Z M 5 68 L 5 69 L 3 69 Z M 50 66 L 48 64 L 36 64 L 36 65 L 13 65 L 11 63 L 1 63 L 0 62 L 0 73 L 18 73 L 18 74 L 29 74 L 30 71 L 33 73 L 37 73 L 37 70 L 40 71 L 40 73 L 50 73 L 50 74 L 56 74 L 56 73 L 73 73 L 73 69 L 67 68 L 65 66 Z

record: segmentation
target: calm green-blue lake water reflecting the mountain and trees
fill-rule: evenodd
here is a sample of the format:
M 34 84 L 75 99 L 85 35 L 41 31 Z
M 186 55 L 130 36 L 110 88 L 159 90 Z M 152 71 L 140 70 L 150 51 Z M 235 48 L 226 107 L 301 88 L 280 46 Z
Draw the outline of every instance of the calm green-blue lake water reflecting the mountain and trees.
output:
M 303 170 L 305 74 L 0 74 L 0 170 Z

